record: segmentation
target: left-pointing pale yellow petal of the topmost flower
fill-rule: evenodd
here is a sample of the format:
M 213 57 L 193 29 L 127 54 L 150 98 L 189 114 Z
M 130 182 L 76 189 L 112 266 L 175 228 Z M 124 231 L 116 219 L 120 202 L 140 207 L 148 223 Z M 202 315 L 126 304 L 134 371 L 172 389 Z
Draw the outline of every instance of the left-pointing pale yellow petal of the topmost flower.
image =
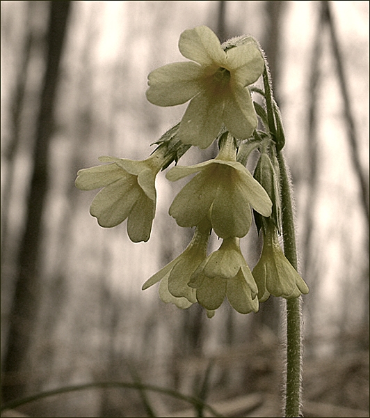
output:
M 196 63 L 170 63 L 150 72 L 147 100 L 157 106 L 175 106 L 193 98 L 202 88 L 204 69 Z

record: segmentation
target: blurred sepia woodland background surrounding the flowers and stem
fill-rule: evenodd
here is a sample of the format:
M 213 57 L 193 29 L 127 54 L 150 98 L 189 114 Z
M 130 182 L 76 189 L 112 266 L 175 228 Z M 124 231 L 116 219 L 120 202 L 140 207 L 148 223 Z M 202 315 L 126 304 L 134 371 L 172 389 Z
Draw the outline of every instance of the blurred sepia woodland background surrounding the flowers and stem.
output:
M 199 396 L 208 370 L 207 401 L 223 415 L 280 416 L 283 302 L 248 316 L 225 302 L 209 320 L 140 290 L 191 239 L 168 215 L 180 185 L 159 174 L 152 237 L 139 244 L 126 222 L 98 226 L 95 191 L 74 187 L 99 156 L 145 159 L 179 121 L 186 104 L 147 102 L 147 74 L 183 61 L 179 35 L 198 25 L 221 41 L 255 36 L 271 65 L 310 288 L 303 412 L 369 417 L 368 1 L 1 1 L 2 400 L 108 380 Z M 213 156 L 191 149 L 181 164 Z M 242 248 L 253 268 L 254 226 Z M 152 411 L 138 391 L 90 389 L 11 416 L 195 416 L 147 400 Z

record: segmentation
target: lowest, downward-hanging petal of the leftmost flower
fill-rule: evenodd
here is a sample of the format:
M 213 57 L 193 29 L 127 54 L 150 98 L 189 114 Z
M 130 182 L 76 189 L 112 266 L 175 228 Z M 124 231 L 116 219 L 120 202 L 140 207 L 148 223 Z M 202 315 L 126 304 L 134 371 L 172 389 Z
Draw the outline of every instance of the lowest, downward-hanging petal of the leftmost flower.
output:
M 133 242 L 147 242 L 152 231 L 155 202 L 141 192 L 127 219 L 127 234 Z

